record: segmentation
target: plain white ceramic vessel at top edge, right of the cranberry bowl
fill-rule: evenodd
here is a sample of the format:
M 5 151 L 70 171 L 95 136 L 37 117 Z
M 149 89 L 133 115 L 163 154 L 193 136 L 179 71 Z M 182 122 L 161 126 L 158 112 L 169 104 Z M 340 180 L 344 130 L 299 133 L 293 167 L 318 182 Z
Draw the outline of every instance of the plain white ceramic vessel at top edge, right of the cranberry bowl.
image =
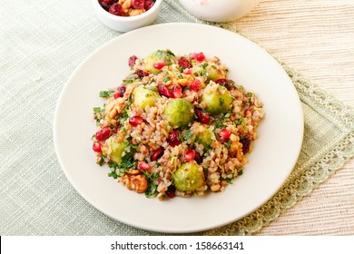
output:
M 260 0 L 179 0 L 192 15 L 212 22 L 227 22 L 247 15 Z

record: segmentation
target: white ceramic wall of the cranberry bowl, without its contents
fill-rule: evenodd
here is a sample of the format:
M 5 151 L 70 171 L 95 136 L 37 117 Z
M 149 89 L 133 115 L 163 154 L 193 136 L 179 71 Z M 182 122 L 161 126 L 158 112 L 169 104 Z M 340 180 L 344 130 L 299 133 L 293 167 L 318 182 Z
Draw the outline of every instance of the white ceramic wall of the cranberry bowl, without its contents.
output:
M 98 0 L 92 0 L 93 11 L 101 22 L 109 28 L 120 31 L 128 32 L 133 29 L 152 24 L 157 18 L 161 10 L 162 0 L 156 0 L 152 8 L 141 15 L 136 16 L 117 16 L 112 15 L 98 3 Z

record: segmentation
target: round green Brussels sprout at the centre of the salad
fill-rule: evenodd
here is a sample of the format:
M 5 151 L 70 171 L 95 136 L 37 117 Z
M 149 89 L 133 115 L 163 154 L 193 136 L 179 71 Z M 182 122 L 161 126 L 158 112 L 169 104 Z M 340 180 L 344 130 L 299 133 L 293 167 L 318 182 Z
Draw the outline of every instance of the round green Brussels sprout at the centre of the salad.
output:
M 173 99 L 164 109 L 164 117 L 174 129 L 187 126 L 193 121 L 194 107 L 184 99 Z

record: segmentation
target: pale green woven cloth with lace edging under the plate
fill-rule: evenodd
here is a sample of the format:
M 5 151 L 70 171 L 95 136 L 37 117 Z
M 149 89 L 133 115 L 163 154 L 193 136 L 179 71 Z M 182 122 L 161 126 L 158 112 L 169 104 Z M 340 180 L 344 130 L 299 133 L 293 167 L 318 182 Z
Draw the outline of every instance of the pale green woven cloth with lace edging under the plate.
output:
M 38 0 L 21 8 L 14 1 L 4 1 L 0 9 L 4 17 L 0 23 L 0 234 L 160 235 L 95 210 L 66 180 L 54 151 L 54 108 L 65 81 L 88 54 L 121 33 L 100 24 L 89 1 L 49 5 Z M 205 23 L 172 0 L 164 1 L 155 23 L 166 22 Z M 240 33 L 232 24 L 213 25 Z M 300 95 L 305 116 L 299 161 L 288 181 L 260 209 L 198 234 L 257 232 L 354 156 L 353 110 L 281 64 Z

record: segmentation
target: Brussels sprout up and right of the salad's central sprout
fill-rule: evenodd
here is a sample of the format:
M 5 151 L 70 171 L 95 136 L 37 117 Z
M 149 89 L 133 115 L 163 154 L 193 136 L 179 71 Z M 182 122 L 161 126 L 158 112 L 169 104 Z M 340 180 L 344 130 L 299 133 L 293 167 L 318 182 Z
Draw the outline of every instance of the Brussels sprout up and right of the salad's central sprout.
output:
M 227 112 L 232 103 L 231 93 L 219 85 L 218 90 L 211 91 L 211 83 L 203 90 L 202 102 L 205 103 L 205 110 L 213 115 Z

